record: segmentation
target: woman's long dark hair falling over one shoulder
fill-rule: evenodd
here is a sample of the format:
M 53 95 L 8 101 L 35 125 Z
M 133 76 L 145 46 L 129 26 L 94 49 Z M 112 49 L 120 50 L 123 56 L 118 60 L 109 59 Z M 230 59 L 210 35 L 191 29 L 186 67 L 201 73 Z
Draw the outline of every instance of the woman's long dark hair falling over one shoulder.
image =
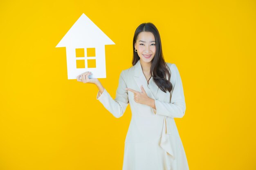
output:
M 140 24 L 135 30 L 132 43 L 132 66 L 134 66 L 139 61 L 139 55 L 137 52 L 135 52 L 135 42 L 137 41 L 139 33 L 141 33 L 142 31 L 148 31 L 153 33 L 156 41 L 156 52 L 155 57 L 151 61 L 150 75 L 151 77 L 153 77 L 153 81 L 158 86 L 158 88 L 160 88 L 164 93 L 166 93 L 166 91 L 169 91 L 171 93 L 171 90 L 173 89 L 173 85 L 170 82 L 171 71 L 167 66 L 166 62 L 164 61 L 160 34 L 156 26 L 150 22 Z

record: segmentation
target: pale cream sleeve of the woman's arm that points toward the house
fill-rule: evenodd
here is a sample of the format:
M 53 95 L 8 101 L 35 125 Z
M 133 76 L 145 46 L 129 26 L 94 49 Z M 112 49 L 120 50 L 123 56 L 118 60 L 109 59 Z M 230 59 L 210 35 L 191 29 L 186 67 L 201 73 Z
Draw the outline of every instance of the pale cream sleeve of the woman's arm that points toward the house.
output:
M 173 118 L 182 118 L 186 110 L 182 80 L 177 66 L 175 64 L 172 64 L 170 68 L 171 79 L 173 79 L 173 93 L 171 96 L 171 103 L 162 102 L 160 100 L 155 99 L 156 109 L 152 108 L 152 110 L 156 115 L 163 115 Z

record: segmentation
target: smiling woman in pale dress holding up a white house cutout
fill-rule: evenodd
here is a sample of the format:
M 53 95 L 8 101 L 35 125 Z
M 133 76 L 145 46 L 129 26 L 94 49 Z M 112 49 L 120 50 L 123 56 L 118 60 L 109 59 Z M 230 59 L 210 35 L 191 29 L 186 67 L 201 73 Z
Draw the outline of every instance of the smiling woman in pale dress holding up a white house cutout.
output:
M 115 99 L 98 79 L 88 78 L 91 72 L 77 80 L 95 84 L 97 99 L 117 118 L 130 104 L 123 170 L 189 170 L 174 121 L 186 110 L 177 66 L 164 61 L 160 35 L 152 23 L 137 27 L 132 46 L 132 67 L 121 71 Z

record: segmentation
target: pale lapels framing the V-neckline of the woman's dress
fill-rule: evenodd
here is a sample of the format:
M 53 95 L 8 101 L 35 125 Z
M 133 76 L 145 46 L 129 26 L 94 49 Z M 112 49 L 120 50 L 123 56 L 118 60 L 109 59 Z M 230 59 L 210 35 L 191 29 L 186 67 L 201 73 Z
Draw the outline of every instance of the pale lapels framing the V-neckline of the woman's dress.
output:
M 152 99 L 156 99 L 158 86 L 153 81 L 153 77 L 149 79 L 149 84 L 147 82 L 147 79 L 145 75 L 143 74 L 142 67 L 140 64 L 140 60 L 135 64 L 134 69 L 134 79 L 137 84 L 137 86 L 140 89 L 141 92 L 141 85 L 143 85 L 144 90 L 146 91 L 148 97 Z

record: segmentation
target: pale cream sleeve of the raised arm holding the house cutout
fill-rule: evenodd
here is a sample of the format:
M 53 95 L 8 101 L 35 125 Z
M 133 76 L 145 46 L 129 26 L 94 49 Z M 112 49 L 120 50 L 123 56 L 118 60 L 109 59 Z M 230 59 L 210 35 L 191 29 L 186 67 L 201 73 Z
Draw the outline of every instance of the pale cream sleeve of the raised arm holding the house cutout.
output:
M 101 102 L 101 104 L 103 104 L 103 106 L 116 118 L 124 115 L 129 103 L 128 91 L 125 88 L 127 88 L 127 85 L 125 82 L 124 71 L 122 71 L 119 77 L 119 84 L 115 99 L 112 99 L 106 88 L 104 88 L 104 91 L 99 98 L 97 97 L 100 92 L 98 91 L 97 93 L 96 99 L 99 100 L 99 102 Z

